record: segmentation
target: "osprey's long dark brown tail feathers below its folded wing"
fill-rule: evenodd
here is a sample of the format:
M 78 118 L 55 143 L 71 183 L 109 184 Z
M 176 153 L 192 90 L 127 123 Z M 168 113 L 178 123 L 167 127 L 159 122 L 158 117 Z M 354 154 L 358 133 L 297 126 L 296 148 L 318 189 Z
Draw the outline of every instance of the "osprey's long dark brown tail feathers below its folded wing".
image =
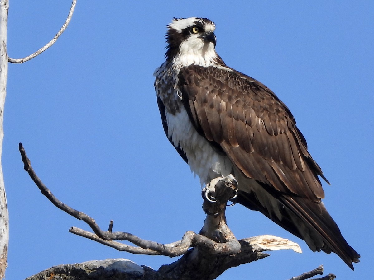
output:
M 266 189 L 266 186 L 264 187 Z M 354 270 L 352 262 L 359 262 L 360 255 L 348 245 L 322 202 L 280 193 L 266 193 L 269 196 L 267 200 L 275 200 L 278 203 L 268 203 L 264 206 L 254 192 L 243 191 L 240 188 L 237 202 L 251 210 L 260 211 L 281 227 L 305 240 L 312 251 L 336 253 Z M 278 209 L 269 209 L 269 205 L 278 205 Z

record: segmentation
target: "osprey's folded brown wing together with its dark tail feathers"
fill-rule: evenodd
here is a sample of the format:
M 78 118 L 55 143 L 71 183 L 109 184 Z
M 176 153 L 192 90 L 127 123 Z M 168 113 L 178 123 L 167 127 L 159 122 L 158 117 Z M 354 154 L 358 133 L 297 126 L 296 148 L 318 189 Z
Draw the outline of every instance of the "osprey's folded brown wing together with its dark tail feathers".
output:
M 353 269 L 359 255 L 321 203 L 318 175 L 326 179 L 291 112 L 269 88 L 225 68 L 184 67 L 178 86 L 196 130 L 279 202 L 282 217 L 272 214 L 258 194 L 240 192 L 240 181 L 238 202 L 303 238 L 313 251 L 337 253 Z

